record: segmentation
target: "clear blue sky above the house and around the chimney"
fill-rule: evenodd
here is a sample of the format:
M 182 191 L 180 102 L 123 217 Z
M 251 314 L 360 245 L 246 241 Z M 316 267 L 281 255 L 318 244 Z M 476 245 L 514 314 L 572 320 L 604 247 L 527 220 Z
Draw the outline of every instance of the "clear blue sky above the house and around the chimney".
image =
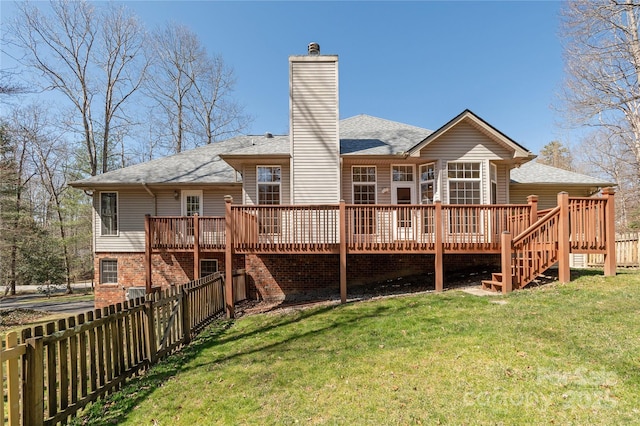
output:
M 339 55 L 340 116 L 435 130 L 469 108 L 533 152 L 572 144 L 552 108 L 559 2 L 124 2 L 153 28 L 189 26 L 235 70 L 248 133 L 288 132 L 288 56 Z M 3 2 L 2 20 L 11 8 Z

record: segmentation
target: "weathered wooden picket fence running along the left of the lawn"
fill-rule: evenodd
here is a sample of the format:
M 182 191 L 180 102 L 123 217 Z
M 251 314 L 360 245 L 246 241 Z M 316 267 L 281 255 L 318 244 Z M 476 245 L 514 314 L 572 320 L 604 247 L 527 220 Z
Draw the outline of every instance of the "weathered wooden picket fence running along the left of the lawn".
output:
M 242 274 L 234 274 L 241 287 Z M 219 273 L 6 336 L 2 424 L 65 423 L 224 313 Z

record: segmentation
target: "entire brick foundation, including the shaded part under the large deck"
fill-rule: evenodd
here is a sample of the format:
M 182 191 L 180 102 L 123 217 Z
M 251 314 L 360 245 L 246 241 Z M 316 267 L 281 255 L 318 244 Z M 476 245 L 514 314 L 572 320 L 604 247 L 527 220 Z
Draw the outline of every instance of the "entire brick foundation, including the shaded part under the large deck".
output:
M 202 259 L 217 259 L 224 270 L 224 253 L 203 253 Z M 100 260 L 118 260 L 118 284 L 100 283 Z M 144 253 L 96 253 L 95 307 L 102 308 L 126 300 L 127 288 L 145 286 Z M 154 287 L 168 288 L 193 280 L 192 253 L 157 253 L 151 258 Z M 327 297 L 340 291 L 338 255 L 236 255 L 234 269 L 245 268 L 247 296 L 267 301 L 302 300 Z M 445 255 L 447 273 L 488 267 L 499 271 L 500 255 Z M 432 254 L 372 254 L 347 256 L 349 287 L 366 287 L 384 280 L 411 275 L 433 274 Z

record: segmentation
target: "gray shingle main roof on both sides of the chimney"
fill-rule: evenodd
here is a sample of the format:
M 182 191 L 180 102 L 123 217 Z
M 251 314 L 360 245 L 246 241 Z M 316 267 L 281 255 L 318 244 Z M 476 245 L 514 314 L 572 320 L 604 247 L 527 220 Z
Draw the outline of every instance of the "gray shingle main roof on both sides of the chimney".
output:
M 340 120 L 340 153 L 393 155 L 423 140 L 430 130 L 369 115 Z M 233 168 L 220 155 L 289 155 L 289 136 L 236 136 L 179 154 L 114 170 L 77 182 L 91 188 L 128 184 L 216 184 L 236 182 Z

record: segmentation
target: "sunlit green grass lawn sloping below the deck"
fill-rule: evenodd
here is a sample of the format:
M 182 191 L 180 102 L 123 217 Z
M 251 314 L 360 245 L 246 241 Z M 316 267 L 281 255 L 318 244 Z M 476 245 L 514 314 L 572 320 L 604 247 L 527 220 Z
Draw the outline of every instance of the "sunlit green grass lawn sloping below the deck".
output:
M 638 272 L 255 315 L 76 423 L 638 424 L 638 330 Z

